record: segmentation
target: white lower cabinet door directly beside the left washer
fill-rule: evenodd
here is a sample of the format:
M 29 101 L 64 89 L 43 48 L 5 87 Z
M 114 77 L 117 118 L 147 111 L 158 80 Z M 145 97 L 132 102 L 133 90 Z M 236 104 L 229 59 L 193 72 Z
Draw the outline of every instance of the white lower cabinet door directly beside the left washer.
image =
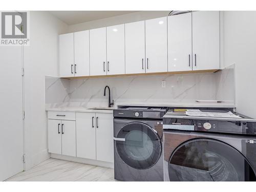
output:
M 96 113 L 96 159 L 114 162 L 113 114 Z

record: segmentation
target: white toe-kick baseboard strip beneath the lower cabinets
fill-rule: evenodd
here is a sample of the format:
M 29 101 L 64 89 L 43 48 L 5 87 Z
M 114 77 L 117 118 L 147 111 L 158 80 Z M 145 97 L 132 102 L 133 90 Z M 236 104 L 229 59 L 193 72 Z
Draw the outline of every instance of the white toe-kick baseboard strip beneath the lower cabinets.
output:
M 80 157 L 71 157 L 71 156 L 59 155 L 59 154 L 53 154 L 53 153 L 51 153 L 51 158 L 62 159 L 62 160 L 67 160 L 67 161 L 74 161 L 74 162 L 78 162 L 78 163 L 85 163 L 85 164 L 91 164 L 91 165 L 102 166 L 102 167 L 114 168 L 114 163 L 98 161 L 98 160 L 93 160 L 93 159 L 84 159 L 84 158 L 80 158 Z

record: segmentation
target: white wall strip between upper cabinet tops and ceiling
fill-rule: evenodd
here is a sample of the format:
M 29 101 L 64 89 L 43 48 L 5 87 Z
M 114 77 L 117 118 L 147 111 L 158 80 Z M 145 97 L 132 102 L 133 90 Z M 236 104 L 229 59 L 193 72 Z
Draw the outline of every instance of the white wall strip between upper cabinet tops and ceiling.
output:
M 170 11 L 138 11 L 134 13 L 93 20 L 91 22 L 85 22 L 81 24 L 69 26 L 69 32 L 76 32 L 88 29 L 96 29 L 101 27 L 108 27 L 113 25 L 119 25 L 124 23 L 137 22 L 139 20 L 152 19 L 157 17 L 168 16 Z

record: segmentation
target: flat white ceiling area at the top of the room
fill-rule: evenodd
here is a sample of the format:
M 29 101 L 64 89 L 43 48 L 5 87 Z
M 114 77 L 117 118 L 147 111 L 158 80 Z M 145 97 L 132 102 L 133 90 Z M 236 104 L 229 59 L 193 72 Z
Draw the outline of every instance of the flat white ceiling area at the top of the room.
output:
M 136 11 L 49 11 L 68 25 L 74 25 L 91 20 L 97 20 L 117 15 L 124 15 Z

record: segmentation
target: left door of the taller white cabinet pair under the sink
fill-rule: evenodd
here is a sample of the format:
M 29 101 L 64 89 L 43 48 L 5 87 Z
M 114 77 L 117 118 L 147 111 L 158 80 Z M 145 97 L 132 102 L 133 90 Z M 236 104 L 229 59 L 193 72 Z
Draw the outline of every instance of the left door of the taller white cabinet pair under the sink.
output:
M 95 113 L 76 113 L 77 157 L 96 159 Z

